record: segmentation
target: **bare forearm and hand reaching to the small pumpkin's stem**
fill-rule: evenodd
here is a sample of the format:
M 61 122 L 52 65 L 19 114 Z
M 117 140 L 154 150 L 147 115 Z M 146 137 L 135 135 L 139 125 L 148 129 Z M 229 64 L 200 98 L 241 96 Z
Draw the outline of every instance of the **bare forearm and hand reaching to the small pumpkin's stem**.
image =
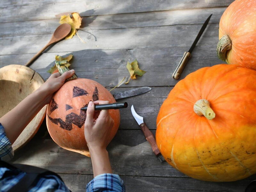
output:
M 28 95 L 15 108 L 0 118 L 4 126 L 6 136 L 13 143 L 36 114 L 48 104 L 54 92 L 58 91 L 65 80 L 71 77 L 75 71 L 67 71 L 62 76 L 55 73 L 41 85 L 35 92 Z

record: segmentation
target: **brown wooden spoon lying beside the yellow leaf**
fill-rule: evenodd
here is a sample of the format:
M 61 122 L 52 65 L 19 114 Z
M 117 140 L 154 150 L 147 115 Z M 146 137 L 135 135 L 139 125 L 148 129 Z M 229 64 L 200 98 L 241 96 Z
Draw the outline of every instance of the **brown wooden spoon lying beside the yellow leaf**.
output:
M 68 23 L 63 23 L 54 31 L 51 40 L 46 44 L 43 49 L 41 49 L 34 57 L 28 61 L 25 66 L 29 66 L 33 61 L 51 44 L 57 43 L 58 41 L 64 39 L 71 31 L 71 26 Z

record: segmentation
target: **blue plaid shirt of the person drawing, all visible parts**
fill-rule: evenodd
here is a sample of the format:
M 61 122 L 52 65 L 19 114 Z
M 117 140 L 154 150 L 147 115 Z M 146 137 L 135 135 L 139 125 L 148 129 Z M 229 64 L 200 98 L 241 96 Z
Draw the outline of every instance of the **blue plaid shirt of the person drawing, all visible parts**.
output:
M 0 123 L 0 159 L 9 161 L 13 157 L 12 144 L 6 137 L 4 127 Z M 5 172 L 12 172 L 6 174 Z M 6 167 L 0 167 L 0 192 L 6 192 L 16 185 L 26 173 L 20 170 L 12 171 Z M 44 175 L 40 177 L 36 185 L 28 192 L 58 191 L 69 192 L 68 187 L 55 175 Z M 125 192 L 123 180 L 116 174 L 105 173 L 96 176 L 86 186 L 87 192 Z

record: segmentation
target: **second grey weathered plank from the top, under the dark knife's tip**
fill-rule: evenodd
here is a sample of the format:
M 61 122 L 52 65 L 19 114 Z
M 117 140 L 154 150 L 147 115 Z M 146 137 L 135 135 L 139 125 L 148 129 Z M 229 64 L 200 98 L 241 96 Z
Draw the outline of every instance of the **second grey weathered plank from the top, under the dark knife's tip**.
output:
M 213 14 L 210 23 L 218 23 L 225 9 L 226 7 L 220 7 L 214 9 L 188 9 L 186 11 L 174 10 L 90 16 L 83 18 L 80 29 L 87 31 L 178 24 L 203 24 L 210 14 Z M 59 25 L 59 19 L 7 22 L 1 24 L 0 36 L 49 34 L 53 33 Z M 84 32 L 78 31 L 78 33 L 83 34 Z

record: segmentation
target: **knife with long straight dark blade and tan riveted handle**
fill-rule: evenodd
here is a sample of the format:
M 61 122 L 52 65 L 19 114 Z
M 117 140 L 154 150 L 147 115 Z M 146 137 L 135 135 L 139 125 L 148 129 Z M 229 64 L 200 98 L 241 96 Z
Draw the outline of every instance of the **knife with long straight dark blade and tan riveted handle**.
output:
M 209 23 L 209 20 L 211 19 L 212 14 L 207 18 L 207 20 L 204 22 L 204 25 L 202 26 L 202 28 L 200 29 L 199 33 L 196 36 L 196 39 L 194 41 L 194 43 L 191 45 L 190 49 L 188 50 L 188 52 L 184 52 L 183 57 L 180 60 L 180 63 L 178 64 L 177 68 L 175 69 L 175 71 L 172 74 L 172 78 L 173 79 L 179 79 L 180 78 L 180 74 L 183 71 L 184 67 L 186 66 L 188 59 L 190 59 L 191 57 L 191 53 L 194 50 L 196 43 L 198 42 L 198 40 L 200 39 L 200 37 L 202 36 L 202 34 L 204 33 L 204 29 L 206 28 L 206 26 Z

